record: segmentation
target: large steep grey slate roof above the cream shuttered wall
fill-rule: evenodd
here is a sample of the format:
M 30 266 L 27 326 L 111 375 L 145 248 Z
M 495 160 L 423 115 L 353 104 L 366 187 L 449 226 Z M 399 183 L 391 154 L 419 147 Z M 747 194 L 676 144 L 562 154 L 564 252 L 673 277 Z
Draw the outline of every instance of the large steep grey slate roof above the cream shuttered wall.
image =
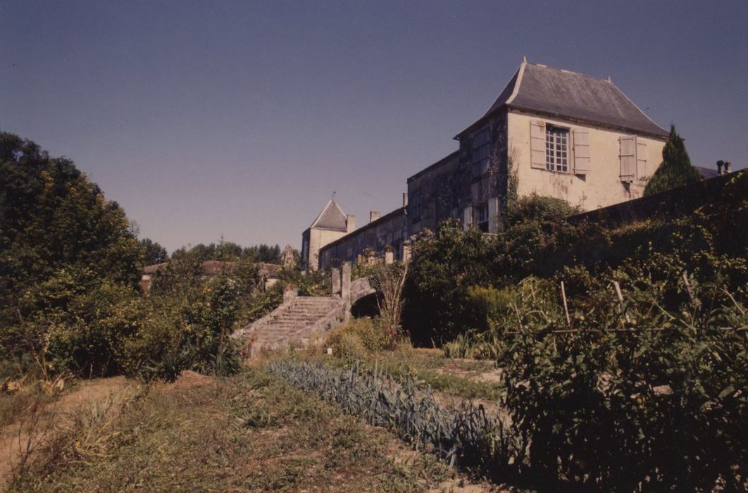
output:
M 509 109 L 603 123 L 657 137 L 668 135 L 667 130 L 650 120 L 610 80 L 530 64 L 527 61 L 522 62 L 488 111 L 468 129 L 505 106 Z

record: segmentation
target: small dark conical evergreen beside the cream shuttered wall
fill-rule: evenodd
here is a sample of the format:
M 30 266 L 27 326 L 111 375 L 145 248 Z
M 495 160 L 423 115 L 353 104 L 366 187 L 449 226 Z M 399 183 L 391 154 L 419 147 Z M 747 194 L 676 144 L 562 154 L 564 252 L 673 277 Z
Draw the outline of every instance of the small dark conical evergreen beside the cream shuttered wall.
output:
M 675 125 L 670 126 L 670 135 L 662 150 L 662 163 L 644 189 L 644 195 L 654 195 L 702 180 L 702 175 L 691 165 L 686 146 Z

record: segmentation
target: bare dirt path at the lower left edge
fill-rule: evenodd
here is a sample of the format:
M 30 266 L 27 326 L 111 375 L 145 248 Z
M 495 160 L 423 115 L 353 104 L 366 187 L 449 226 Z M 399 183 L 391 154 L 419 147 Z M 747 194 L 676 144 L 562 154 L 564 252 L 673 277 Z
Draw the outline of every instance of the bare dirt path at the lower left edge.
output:
M 62 394 L 55 402 L 45 405 L 37 414 L 37 419 L 28 411 L 15 422 L 0 428 L 0 486 L 10 477 L 13 465 L 18 463 L 22 454 L 29 447 L 32 450 L 37 448 L 52 430 L 69 419 L 70 414 L 85 405 L 123 394 L 137 385 L 137 382 L 123 376 L 86 380 L 73 391 Z

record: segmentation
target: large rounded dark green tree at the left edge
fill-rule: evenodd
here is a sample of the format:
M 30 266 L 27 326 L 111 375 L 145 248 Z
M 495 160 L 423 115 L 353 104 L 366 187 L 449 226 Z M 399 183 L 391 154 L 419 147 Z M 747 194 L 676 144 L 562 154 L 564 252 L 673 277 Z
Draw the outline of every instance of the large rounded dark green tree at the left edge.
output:
M 141 254 L 124 211 L 70 159 L 0 132 L 0 357 L 56 344 L 64 366 L 111 371 L 102 317 L 113 334 L 128 323 L 96 303 L 136 293 Z

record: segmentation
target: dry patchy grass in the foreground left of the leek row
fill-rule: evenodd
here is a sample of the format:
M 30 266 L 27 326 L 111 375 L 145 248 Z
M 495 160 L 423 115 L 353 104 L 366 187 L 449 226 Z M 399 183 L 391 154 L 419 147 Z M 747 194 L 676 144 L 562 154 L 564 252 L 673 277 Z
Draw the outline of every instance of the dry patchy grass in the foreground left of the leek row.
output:
M 10 491 L 410 492 L 461 481 L 432 456 L 255 369 L 188 375 L 89 413 Z

